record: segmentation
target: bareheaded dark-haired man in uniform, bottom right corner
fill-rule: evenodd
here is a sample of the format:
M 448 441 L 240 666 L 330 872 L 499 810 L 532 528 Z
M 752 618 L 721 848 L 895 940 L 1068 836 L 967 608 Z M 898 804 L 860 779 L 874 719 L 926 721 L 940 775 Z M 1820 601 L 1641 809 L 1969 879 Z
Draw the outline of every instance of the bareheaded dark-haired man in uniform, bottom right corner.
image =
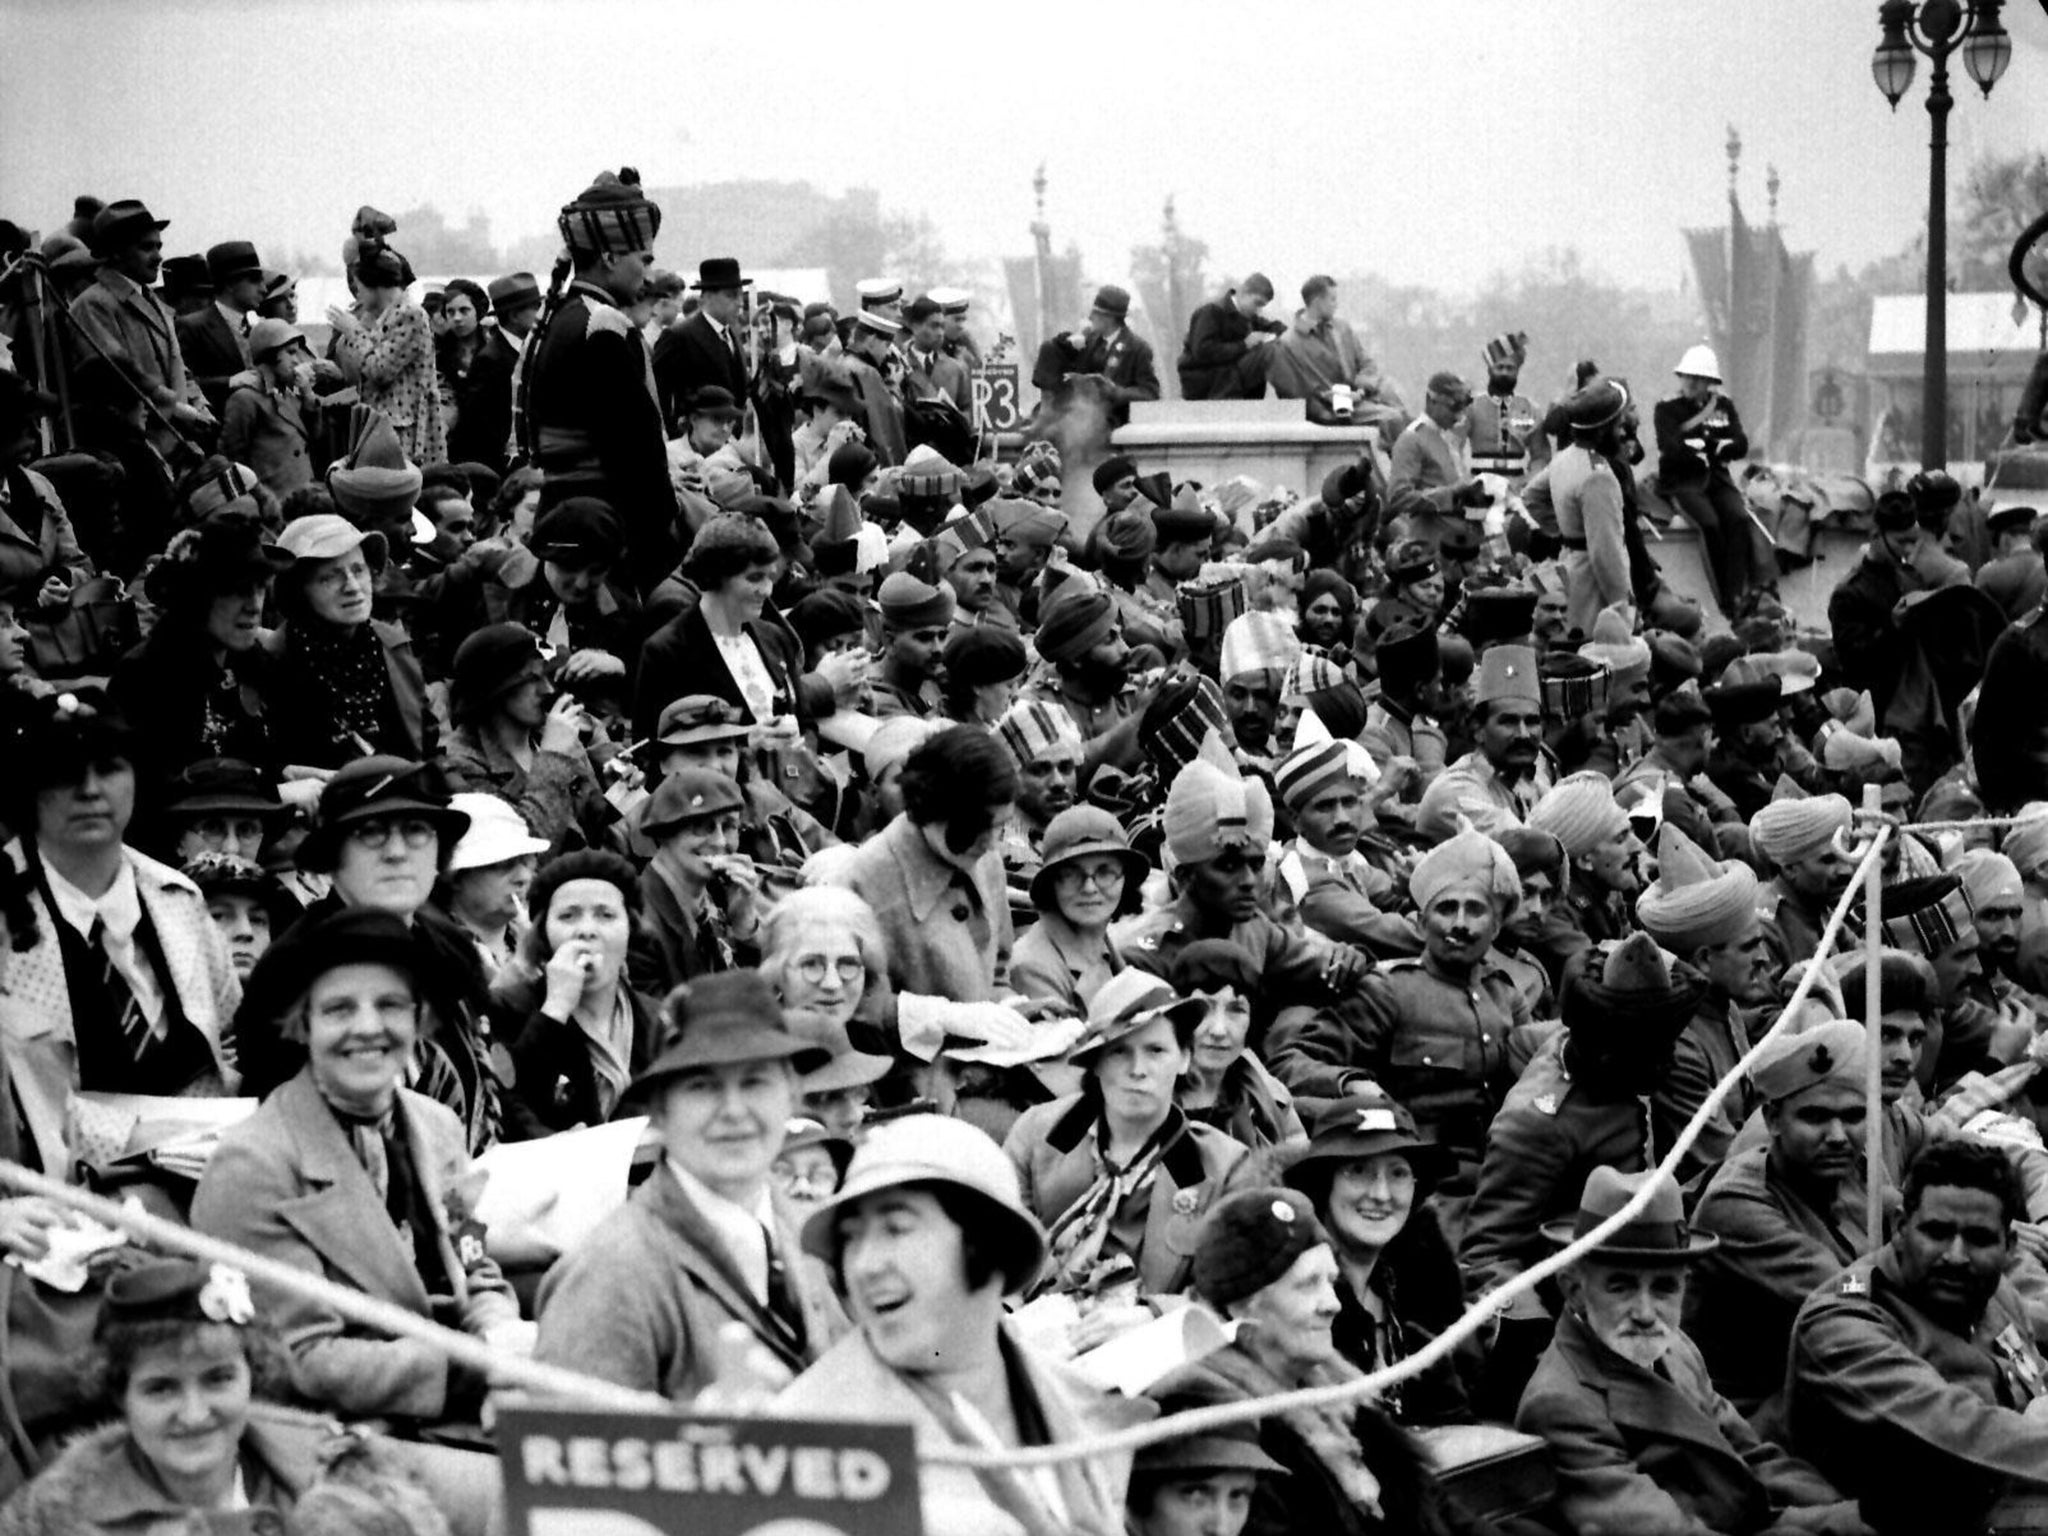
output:
M 1937 1141 L 1892 1241 L 1792 1323 L 1792 1448 L 1896 1532 L 2028 1530 L 2048 1503 L 2048 1362 L 2005 1270 L 2025 1202 L 1995 1147 Z

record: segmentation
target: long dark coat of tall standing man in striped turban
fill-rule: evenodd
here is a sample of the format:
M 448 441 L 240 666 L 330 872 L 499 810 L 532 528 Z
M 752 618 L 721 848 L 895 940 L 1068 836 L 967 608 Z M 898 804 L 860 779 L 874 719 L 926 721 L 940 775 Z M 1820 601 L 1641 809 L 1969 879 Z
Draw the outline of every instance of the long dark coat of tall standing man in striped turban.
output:
M 524 414 L 541 506 L 600 496 L 627 526 L 627 559 L 645 590 L 676 569 L 676 492 L 647 342 L 610 295 L 575 283 L 547 330 L 526 338 Z

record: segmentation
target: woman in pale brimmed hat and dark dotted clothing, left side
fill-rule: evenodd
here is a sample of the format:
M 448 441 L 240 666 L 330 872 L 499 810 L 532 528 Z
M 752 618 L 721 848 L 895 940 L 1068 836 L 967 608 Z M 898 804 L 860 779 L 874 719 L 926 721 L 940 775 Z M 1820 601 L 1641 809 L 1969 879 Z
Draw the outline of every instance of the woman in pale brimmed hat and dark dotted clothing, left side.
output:
M 276 582 L 285 623 L 264 637 L 276 659 L 266 702 L 279 762 L 340 768 L 375 754 L 440 756 L 412 639 L 371 618 L 383 535 L 317 512 L 285 524 L 276 547 L 293 557 Z

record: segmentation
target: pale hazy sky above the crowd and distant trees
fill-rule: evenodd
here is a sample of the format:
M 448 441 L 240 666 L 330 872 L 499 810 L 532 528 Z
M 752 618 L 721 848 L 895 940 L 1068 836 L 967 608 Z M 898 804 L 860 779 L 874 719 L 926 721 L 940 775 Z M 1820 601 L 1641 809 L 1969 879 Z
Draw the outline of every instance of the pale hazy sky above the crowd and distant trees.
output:
M 1989 102 L 1958 59 L 1958 182 L 2048 143 L 2048 14 L 2005 18 Z M 1927 70 L 1892 115 L 1876 37 L 1872 0 L 0 0 L 0 215 L 49 229 L 94 190 L 143 197 L 174 252 L 332 254 L 358 203 L 434 201 L 506 242 L 629 162 L 872 184 L 995 256 L 1028 250 L 1044 160 L 1094 276 L 1174 193 L 1217 266 L 1282 293 L 1319 268 L 1473 291 L 1552 244 L 1675 285 L 1677 227 L 1724 213 L 1733 121 L 1745 209 L 1778 164 L 1788 236 L 1831 270 L 1925 217 Z M 664 229 L 664 262 L 702 254 Z

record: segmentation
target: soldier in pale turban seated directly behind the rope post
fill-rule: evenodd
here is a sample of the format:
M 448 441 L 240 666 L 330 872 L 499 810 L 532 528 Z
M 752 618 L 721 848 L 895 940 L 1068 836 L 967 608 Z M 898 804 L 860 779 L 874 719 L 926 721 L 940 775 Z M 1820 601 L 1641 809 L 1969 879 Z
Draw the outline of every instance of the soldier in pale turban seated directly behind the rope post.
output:
M 1864 1026 L 1849 1020 L 1772 1040 L 1749 1069 L 1769 1141 L 1714 1169 L 1694 1212 L 1720 1249 L 1700 1264 L 1686 1331 L 1743 1413 L 1784 1386 L 1806 1296 L 1870 1247 L 1866 1063 Z

